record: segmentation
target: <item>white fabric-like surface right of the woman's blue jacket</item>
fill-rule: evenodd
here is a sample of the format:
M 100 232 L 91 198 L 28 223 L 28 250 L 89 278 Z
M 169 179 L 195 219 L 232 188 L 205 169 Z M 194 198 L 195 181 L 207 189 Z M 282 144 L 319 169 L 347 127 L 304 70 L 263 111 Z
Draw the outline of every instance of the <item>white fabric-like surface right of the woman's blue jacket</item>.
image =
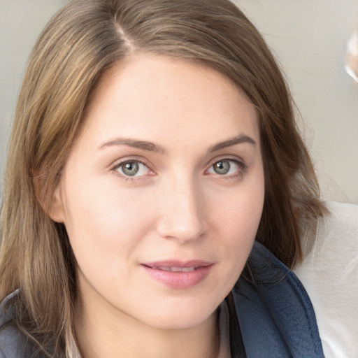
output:
M 312 300 L 324 354 L 358 357 L 358 206 L 328 202 L 294 271 Z

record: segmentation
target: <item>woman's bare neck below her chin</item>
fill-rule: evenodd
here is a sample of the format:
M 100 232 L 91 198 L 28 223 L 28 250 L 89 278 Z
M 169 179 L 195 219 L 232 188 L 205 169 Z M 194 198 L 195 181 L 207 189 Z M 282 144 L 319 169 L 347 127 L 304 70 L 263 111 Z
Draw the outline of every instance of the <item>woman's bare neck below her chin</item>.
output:
M 215 358 L 220 345 L 216 313 L 195 327 L 160 329 L 78 299 L 74 322 L 83 358 Z

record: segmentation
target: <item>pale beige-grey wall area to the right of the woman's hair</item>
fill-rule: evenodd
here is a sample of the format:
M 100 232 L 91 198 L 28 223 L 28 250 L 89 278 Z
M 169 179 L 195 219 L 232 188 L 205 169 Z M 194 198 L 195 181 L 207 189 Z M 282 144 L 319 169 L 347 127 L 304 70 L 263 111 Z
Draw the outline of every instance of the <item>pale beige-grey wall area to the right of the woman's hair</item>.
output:
M 327 199 L 358 203 L 358 84 L 345 73 L 357 0 L 236 0 L 287 73 Z

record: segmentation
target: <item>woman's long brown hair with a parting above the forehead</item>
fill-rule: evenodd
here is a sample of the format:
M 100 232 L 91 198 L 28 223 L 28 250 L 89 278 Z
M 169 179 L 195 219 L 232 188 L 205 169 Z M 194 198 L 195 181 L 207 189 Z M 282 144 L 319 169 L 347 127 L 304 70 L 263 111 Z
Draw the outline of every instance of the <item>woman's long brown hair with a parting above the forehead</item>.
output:
M 210 66 L 253 103 L 266 186 L 257 240 L 287 266 L 301 259 L 304 222 L 324 213 L 282 73 L 233 3 L 69 1 L 39 36 L 24 76 L 4 180 L 0 256 L 0 299 L 20 288 L 17 305 L 31 335 L 52 343 L 55 337 L 69 357 L 79 355 L 71 322 L 76 261 L 63 225 L 46 212 L 96 83 L 138 52 Z

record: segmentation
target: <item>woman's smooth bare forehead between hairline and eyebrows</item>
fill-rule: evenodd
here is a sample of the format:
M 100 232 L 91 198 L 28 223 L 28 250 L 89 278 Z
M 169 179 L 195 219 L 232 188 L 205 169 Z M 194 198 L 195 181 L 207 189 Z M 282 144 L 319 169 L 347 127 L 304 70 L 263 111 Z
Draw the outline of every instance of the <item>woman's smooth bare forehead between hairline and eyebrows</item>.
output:
M 96 136 L 159 135 L 189 140 L 259 139 L 257 114 L 245 94 L 218 71 L 182 59 L 138 55 L 106 71 L 92 94 L 85 127 Z

